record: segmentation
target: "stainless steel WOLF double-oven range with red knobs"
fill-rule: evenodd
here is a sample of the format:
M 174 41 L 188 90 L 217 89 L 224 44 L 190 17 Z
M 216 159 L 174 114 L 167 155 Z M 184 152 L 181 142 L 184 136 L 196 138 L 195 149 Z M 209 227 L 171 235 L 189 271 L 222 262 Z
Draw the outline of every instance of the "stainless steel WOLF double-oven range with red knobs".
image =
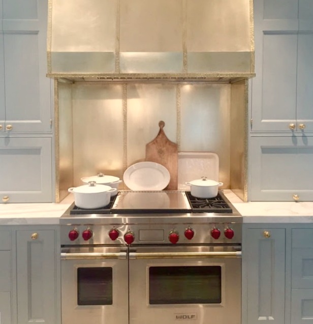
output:
M 222 191 L 119 191 L 60 224 L 62 324 L 241 322 L 242 218 Z

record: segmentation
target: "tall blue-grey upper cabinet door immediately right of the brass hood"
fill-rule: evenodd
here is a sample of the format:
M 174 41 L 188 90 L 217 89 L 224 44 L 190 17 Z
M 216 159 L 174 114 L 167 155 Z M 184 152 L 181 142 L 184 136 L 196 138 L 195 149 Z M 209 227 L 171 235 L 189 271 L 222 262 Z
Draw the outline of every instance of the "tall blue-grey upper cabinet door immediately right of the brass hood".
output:
M 289 131 L 296 124 L 298 4 L 256 0 L 256 77 L 252 80 L 252 130 Z

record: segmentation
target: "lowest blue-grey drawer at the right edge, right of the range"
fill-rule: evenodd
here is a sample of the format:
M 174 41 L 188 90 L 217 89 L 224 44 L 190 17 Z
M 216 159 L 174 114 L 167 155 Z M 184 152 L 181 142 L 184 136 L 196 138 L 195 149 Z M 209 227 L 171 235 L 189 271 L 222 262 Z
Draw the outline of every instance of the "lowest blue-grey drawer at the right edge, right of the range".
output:
M 291 322 L 313 324 L 313 289 L 291 290 Z

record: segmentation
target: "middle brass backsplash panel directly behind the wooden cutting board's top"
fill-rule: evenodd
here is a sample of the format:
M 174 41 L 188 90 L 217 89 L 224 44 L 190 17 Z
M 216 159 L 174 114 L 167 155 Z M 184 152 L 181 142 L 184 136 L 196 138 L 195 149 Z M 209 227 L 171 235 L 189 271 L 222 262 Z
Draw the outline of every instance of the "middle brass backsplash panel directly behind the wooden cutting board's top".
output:
M 145 160 L 146 144 L 164 132 L 177 142 L 175 84 L 130 84 L 127 87 L 127 165 Z

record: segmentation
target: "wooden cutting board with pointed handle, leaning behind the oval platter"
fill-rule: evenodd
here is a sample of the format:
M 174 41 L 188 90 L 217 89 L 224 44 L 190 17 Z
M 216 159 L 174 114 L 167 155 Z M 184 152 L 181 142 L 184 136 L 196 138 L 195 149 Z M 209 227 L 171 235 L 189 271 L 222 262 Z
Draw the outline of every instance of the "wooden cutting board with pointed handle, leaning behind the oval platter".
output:
M 177 190 L 178 149 L 177 144 L 170 141 L 164 133 L 165 123 L 159 122 L 160 131 L 157 137 L 146 144 L 146 161 L 165 166 L 170 172 L 170 182 L 166 190 Z

